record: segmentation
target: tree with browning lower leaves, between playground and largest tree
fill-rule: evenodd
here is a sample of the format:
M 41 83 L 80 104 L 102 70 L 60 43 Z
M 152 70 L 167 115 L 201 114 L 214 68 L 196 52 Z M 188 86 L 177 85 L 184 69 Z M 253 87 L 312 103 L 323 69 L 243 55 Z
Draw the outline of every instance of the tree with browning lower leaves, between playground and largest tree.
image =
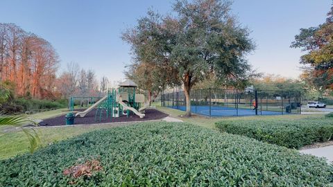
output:
M 146 91 L 151 103 L 167 85 L 179 85 L 178 71 L 170 66 L 171 35 L 160 15 L 148 11 L 135 28 L 126 30 L 122 39 L 130 44 L 133 62 L 126 66 L 126 77 Z

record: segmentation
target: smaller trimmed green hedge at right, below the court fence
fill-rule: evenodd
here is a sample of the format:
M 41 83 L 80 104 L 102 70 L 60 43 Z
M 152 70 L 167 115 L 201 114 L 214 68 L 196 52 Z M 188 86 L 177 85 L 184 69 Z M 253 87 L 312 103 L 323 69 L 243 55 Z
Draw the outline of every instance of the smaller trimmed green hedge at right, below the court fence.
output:
M 296 149 L 329 141 L 333 135 L 333 121 L 328 118 L 221 121 L 216 123 L 216 127 L 230 134 Z

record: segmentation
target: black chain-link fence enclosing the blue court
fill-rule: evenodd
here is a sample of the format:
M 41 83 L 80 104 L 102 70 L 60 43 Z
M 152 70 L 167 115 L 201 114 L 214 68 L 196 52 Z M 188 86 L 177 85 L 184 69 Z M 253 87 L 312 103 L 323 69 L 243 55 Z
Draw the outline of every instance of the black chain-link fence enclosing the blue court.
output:
M 205 116 L 300 114 L 300 91 L 196 89 L 191 112 Z M 184 91 L 161 96 L 161 105 L 186 111 Z

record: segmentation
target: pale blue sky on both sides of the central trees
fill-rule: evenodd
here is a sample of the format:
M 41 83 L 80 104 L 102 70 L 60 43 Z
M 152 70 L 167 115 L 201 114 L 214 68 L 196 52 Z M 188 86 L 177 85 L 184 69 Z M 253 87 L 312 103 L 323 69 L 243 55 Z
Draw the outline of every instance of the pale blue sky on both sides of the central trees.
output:
M 51 42 L 60 55 L 59 72 L 67 62 L 94 69 L 98 80 L 123 78 L 130 46 L 121 32 L 137 24 L 149 8 L 164 14 L 173 1 L 18 1 L 2 0 L 0 22 L 14 23 Z M 325 21 L 330 0 L 234 0 L 232 12 L 247 26 L 257 44 L 248 56 L 259 72 L 297 78 L 300 49 L 289 48 L 300 28 Z

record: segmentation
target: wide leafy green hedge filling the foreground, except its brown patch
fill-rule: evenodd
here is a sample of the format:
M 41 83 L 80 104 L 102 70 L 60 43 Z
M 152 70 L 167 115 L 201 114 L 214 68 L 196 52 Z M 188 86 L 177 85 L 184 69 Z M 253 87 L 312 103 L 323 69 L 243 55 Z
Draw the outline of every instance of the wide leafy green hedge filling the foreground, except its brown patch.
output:
M 71 177 L 97 160 L 101 170 Z M 74 166 L 74 167 L 73 167 Z M 186 123 L 89 132 L 0 161 L 3 186 L 327 186 L 333 166 L 296 150 Z

